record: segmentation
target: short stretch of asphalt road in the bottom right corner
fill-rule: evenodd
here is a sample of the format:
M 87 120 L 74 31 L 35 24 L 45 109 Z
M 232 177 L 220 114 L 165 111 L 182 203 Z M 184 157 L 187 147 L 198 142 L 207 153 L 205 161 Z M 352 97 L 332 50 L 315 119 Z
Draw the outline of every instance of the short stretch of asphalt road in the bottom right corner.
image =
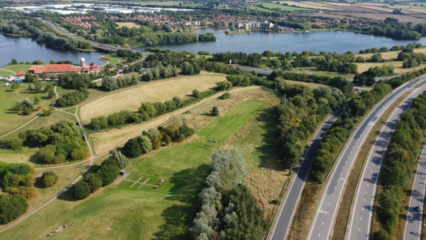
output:
M 426 187 L 426 144 L 423 147 L 420 162 L 417 167 L 416 177 L 414 179 L 413 191 L 411 194 L 410 207 L 407 215 L 406 230 L 404 240 L 420 240 L 422 238 L 423 224 L 423 202 L 425 199 Z M 416 211 L 416 207 L 420 211 Z

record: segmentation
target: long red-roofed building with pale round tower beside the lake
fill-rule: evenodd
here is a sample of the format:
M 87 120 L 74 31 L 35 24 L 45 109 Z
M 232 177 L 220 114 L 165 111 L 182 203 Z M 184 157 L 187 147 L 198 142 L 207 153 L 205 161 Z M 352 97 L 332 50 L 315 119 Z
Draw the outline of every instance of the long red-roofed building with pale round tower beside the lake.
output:
M 73 66 L 68 63 L 48 64 L 46 66 L 36 65 L 36 66 L 31 66 L 28 69 L 28 72 L 32 74 L 42 74 L 43 72 L 48 74 L 50 73 L 63 74 L 67 72 L 97 72 L 99 70 L 101 70 L 101 67 L 99 65 L 96 65 L 95 63 L 92 62 L 87 66 L 84 58 L 81 58 L 80 66 Z

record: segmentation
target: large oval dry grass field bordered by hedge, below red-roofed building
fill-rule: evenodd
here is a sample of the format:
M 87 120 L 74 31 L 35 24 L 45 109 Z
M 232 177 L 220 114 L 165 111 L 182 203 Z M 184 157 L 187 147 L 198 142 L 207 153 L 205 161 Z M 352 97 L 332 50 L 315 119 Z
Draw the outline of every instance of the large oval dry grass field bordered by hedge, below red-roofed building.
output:
M 142 101 L 165 101 L 173 96 L 185 97 L 194 88 L 205 91 L 216 86 L 216 82 L 225 80 L 225 74 L 201 72 L 194 76 L 178 76 L 161 81 L 118 90 L 90 101 L 80 107 L 83 122 L 90 118 L 108 115 L 120 110 L 137 110 Z

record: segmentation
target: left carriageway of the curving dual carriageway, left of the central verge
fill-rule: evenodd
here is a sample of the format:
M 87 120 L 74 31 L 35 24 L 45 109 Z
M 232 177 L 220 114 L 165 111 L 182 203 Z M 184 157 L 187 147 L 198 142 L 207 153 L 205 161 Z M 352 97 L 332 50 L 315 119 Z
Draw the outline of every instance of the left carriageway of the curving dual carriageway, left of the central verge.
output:
M 315 213 L 314 219 L 309 228 L 307 239 L 328 239 L 331 229 L 334 226 L 336 210 L 345 186 L 345 181 L 352 167 L 354 159 L 370 133 L 374 123 L 398 97 L 411 87 L 426 79 L 426 75 L 407 82 L 388 94 L 380 101 L 358 125 L 344 150 L 336 161 L 335 167 L 327 179 L 327 185 L 321 196 L 320 203 Z

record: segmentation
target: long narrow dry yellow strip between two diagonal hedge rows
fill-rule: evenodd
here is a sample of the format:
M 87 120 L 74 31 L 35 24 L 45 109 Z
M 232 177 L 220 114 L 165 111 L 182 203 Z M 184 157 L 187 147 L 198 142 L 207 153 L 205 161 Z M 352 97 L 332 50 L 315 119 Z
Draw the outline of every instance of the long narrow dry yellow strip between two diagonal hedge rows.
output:
M 260 88 L 259 86 L 248 86 L 243 88 L 234 88 L 229 92 L 238 92 L 242 90 L 250 90 Z M 148 130 L 152 127 L 157 127 L 163 123 L 165 123 L 170 116 L 179 115 L 184 113 L 185 111 L 194 108 L 195 106 L 200 106 L 201 104 L 208 102 L 218 96 L 222 95 L 223 92 L 216 93 L 209 97 L 206 97 L 196 103 L 193 103 L 189 106 L 185 106 L 179 108 L 175 111 L 160 115 L 154 119 L 149 121 L 142 122 L 140 124 L 130 124 L 123 126 L 121 128 L 108 129 L 99 132 L 93 132 L 89 135 L 90 140 L 93 142 L 94 150 L 96 154 L 101 154 L 103 152 L 107 152 L 114 147 L 118 147 L 126 143 L 126 141 L 132 137 L 136 137 L 141 134 L 143 130 Z

